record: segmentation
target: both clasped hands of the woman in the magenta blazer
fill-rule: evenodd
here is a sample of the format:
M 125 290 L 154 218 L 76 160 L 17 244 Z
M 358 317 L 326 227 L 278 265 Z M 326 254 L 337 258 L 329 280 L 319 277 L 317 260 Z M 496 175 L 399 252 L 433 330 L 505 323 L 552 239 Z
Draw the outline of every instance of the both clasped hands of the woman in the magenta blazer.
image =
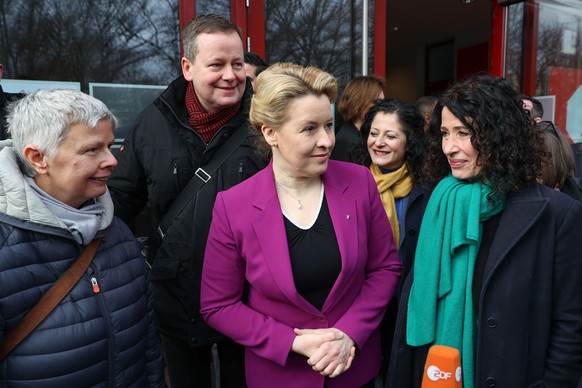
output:
M 350 369 L 356 347 L 346 333 L 335 328 L 294 331 L 297 337 L 291 350 L 306 356 L 314 371 L 334 378 Z

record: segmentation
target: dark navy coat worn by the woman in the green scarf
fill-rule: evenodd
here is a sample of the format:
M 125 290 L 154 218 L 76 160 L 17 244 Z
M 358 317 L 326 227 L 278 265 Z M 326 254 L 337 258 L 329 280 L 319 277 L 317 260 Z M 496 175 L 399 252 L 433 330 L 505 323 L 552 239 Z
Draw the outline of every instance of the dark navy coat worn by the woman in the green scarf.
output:
M 510 194 L 480 295 L 475 387 L 574 387 L 582 374 L 582 205 L 535 185 Z M 387 387 L 419 387 L 428 346 L 406 345 L 408 277 Z

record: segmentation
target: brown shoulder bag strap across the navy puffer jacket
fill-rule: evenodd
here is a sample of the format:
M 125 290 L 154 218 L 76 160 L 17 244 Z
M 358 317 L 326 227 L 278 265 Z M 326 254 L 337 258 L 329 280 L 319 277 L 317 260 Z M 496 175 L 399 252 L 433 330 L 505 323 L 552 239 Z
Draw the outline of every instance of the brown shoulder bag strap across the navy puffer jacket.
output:
M 0 346 L 0 362 L 2 362 L 16 347 L 57 307 L 63 298 L 77 284 L 85 273 L 93 256 L 99 248 L 102 238 L 96 238 L 83 250 L 83 253 L 71 267 L 49 288 L 38 303 L 22 318 L 16 327 L 9 332 Z

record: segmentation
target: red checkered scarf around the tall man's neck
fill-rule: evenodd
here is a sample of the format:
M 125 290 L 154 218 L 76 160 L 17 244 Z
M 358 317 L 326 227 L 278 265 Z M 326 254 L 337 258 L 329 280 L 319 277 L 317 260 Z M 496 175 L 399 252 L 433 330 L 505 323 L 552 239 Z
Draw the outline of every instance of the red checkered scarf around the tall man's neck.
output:
M 208 113 L 204 110 L 192 82 L 188 82 L 186 88 L 186 110 L 188 111 L 188 123 L 202 136 L 206 143 L 212 140 L 212 137 L 220 127 L 230 121 L 239 111 L 242 100 L 231 107 L 216 112 Z

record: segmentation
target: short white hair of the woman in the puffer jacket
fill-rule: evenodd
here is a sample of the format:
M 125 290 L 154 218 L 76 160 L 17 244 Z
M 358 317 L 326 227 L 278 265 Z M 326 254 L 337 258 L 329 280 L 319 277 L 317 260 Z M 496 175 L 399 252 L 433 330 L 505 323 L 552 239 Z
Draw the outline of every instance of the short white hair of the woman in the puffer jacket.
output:
M 110 120 L 113 127 L 117 125 L 117 118 L 103 102 L 72 89 L 28 94 L 9 106 L 7 117 L 14 148 L 30 176 L 35 176 L 36 171 L 24 157 L 24 147 L 34 144 L 43 154 L 54 158 L 72 125 L 95 128 L 101 120 Z

